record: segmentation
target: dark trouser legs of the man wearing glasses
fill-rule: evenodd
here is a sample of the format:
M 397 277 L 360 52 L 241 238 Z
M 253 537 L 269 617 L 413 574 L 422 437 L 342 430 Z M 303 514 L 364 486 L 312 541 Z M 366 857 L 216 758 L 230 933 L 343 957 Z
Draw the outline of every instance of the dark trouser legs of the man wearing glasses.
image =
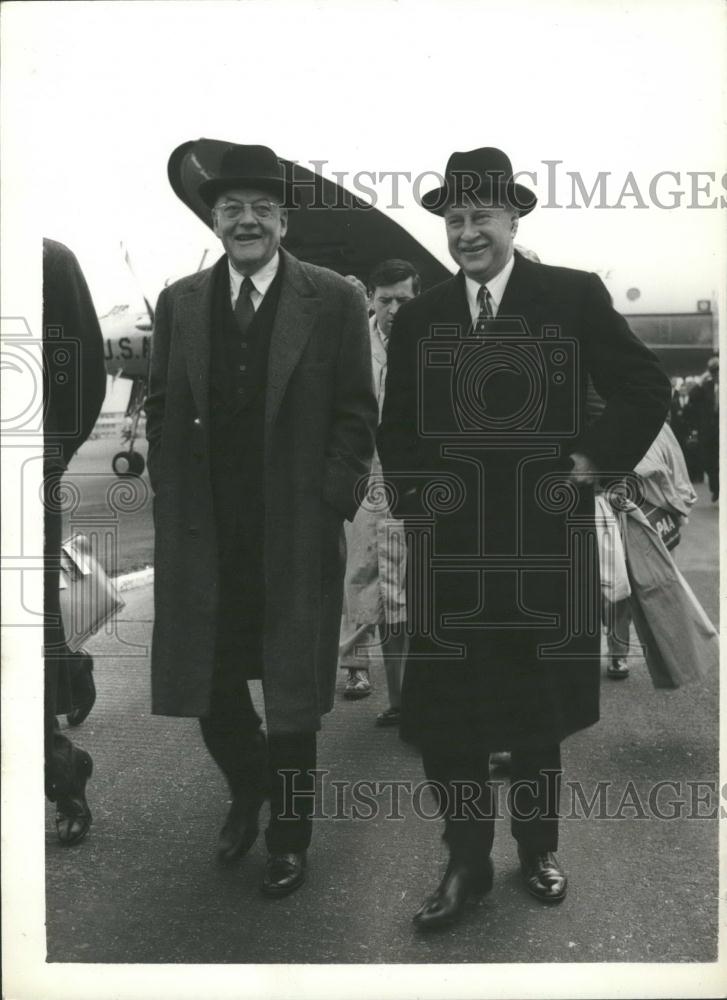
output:
M 207 749 L 233 796 L 262 801 L 270 795 L 265 833 L 271 854 L 302 853 L 311 841 L 315 804 L 316 734 L 267 738 L 237 657 L 218 658 L 210 713 L 200 720 Z

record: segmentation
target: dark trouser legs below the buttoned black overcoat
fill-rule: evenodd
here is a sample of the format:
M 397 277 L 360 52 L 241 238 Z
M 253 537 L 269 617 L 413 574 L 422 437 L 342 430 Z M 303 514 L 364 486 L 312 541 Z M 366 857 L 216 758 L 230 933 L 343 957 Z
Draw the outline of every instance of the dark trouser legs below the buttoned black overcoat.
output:
M 424 773 L 452 855 L 483 860 L 492 850 L 498 800 L 489 781 L 489 756 L 484 749 L 423 748 Z M 512 751 L 507 811 L 512 835 L 526 851 L 558 849 L 560 778 L 559 744 Z

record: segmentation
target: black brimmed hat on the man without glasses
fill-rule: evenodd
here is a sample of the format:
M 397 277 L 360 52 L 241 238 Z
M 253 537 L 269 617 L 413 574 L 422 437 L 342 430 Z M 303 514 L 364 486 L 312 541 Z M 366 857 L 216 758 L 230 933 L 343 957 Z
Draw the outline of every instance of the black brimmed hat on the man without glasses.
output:
M 421 204 L 435 215 L 444 215 L 447 205 L 466 195 L 487 205 L 516 208 L 520 215 L 532 212 L 538 200 L 532 191 L 513 181 L 510 157 L 495 146 L 452 153 L 444 184 L 422 195 Z

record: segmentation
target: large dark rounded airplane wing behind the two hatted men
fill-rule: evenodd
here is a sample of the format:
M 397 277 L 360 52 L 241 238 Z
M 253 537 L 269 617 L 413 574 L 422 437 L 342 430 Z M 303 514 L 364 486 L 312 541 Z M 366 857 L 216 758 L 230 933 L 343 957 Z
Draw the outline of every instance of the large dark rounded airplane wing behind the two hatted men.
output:
M 218 174 L 220 159 L 235 145 L 217 139 L 184 142 L 169 160 L 169 181 L 175 194 L 212 228 L 212 213 L 197 194 L 203 180 Z M 299 208 L 288 215 L 284 246 L 301 260 L 354 274 L 364 283 L 376 264 L 391 257 L 411 261 L 425 288 L 450 276 L 450 271 L 410 233 L 384 212 L 298 163 L 281 158 L 296 187 Z M 328 206 L 320 208 L 315 206 Z

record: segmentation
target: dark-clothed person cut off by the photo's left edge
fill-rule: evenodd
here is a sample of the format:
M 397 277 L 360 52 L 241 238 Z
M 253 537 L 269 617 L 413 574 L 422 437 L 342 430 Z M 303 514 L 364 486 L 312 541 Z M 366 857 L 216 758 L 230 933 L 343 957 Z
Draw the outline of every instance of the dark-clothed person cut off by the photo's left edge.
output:
M 73 687 L 79 671 L 61 620 L 61 480 L 101 412 L 106 369 L 101 328 L 83 272 L 68 247 L 49 239 L 43 240 L 43 376 L 45 788 L 56 803 L 58 840 L 69 847 L 80 843 L 91 826 L 86 783 L 93 762 L 60 732 L 56 718 L 77 710 Z

